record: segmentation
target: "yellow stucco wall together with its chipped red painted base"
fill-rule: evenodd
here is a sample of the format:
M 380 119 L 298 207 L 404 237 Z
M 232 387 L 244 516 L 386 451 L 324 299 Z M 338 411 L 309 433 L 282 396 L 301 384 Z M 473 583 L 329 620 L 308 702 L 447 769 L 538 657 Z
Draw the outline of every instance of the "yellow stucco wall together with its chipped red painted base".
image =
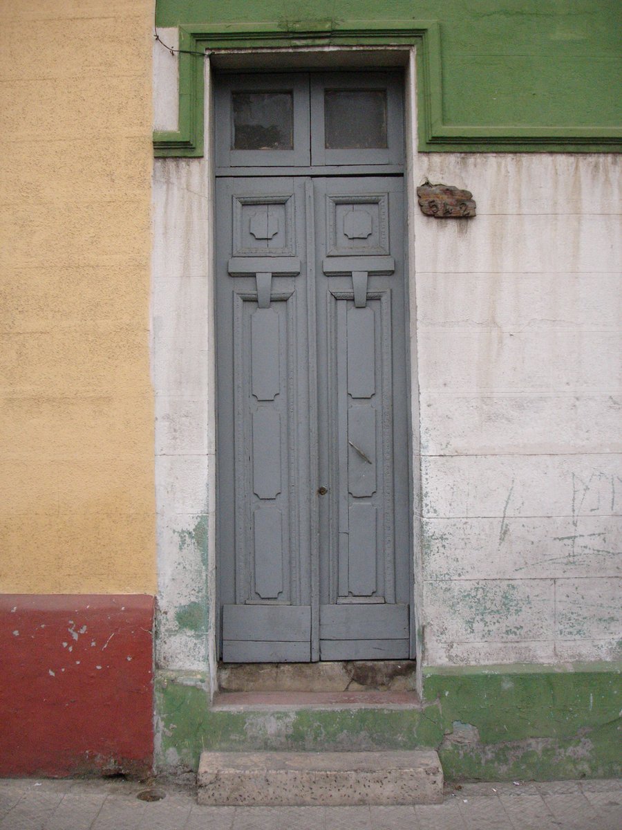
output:
M 0 0 L 0 774 L 148 774 L 153 0 Z

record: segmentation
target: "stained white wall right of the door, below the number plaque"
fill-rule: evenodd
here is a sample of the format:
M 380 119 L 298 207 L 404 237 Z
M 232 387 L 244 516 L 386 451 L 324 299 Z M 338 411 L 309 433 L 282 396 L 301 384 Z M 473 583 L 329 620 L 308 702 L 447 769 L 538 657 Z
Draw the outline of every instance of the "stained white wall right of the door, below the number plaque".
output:
M 618 161 L 415 158 L 427 664 L 620 656 Z

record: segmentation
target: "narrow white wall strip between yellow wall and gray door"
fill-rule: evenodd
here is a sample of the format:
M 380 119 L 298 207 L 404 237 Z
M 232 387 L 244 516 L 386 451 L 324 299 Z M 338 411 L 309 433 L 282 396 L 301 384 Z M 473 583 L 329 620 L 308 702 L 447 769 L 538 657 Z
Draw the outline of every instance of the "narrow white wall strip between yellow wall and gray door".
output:
M 177 32 L 161 32 L 176 45 Z M 155 44 L 156 125 L 177 117 L 176 61 Z M 207 71 L 209 66 L 207 65 Z M 209 90 L 209 78 L 207 78 Z M 161 95 L 159 93 L 162 93 Z M 167 105 L 167 101 L 169 105 Z M 206 108 L 209 134 L 210 108 Z M 167 123 L 168 120 L 168 123 Z M 214 663 L 215 416 L 209 159 L 156 159 L 152 354 L 158 511 L 156 665 Z M 213 673 L 211 682 L 215 681 Z

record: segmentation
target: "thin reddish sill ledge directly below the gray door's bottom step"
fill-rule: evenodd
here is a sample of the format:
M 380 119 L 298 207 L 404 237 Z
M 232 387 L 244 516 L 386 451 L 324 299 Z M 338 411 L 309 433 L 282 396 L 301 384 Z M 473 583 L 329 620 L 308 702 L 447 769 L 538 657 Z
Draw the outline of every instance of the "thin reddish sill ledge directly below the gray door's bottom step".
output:
M 219 691 L 213 710 L 414 709 L 415 691 Z

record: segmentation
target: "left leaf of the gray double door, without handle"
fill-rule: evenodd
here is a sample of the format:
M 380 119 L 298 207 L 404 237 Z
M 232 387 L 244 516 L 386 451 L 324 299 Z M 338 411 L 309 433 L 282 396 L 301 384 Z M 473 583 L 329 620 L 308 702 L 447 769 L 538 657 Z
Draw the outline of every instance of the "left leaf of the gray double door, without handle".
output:
M 221 179 L 216 199 L 223 657 L 309 660 L 304 182 Z

